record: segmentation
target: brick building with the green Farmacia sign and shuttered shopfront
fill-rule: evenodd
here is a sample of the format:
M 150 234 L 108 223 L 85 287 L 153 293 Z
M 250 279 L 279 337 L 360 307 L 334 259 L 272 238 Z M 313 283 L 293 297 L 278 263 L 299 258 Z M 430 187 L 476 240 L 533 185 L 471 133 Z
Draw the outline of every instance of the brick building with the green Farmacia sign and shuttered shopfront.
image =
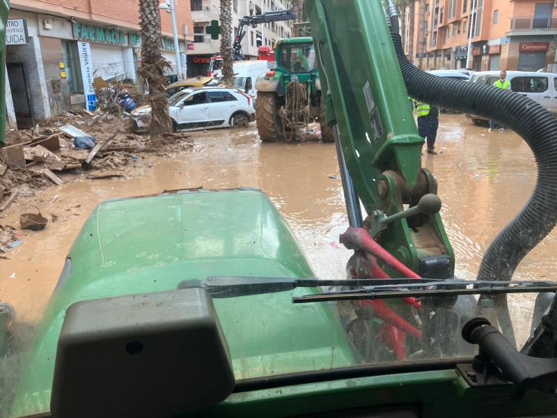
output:
M 164 0 L 163 0 L 164 1 Z M 189 0 L 175 0 L 182 61 Z M 160 11 L 164 57 L 176 59 L 171 13 Z M 83 108 L 95 77 L 136 78 L 141 65 L 139 0 L 12 0 L 6 31 L 8 121 L 20 128 Z M 94 99 L 91 99 L 91 101 Z

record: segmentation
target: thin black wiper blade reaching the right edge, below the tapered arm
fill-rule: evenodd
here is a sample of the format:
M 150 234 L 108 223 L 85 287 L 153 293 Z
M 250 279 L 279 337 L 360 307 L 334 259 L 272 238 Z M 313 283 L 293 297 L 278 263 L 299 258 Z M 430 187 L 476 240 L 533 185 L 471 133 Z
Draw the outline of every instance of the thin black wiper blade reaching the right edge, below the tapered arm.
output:
M 482 286 L 478 286 L 482 285 Z M 467 281 L 446 280 L 430 284 L 409 284 L 405 288 L 394 285 L 364 286 L 353 291 L 333 291 L 292 297 L 292 303 L 332 302 L 338 300 L 393 299 L 398 297 L 431 297 L 454 295 L 496 295 L 499 293 L 544 293 L 557 291 L 553 281 Z M 423 288 L 423 286 L 437 286 Z M 472 286 L 467 288 L 467 286 Z

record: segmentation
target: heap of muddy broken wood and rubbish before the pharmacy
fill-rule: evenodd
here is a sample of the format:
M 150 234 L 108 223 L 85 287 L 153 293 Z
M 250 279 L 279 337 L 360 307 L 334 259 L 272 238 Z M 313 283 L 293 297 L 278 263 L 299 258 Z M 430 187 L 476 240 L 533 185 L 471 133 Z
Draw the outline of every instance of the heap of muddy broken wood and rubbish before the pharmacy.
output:
M 193 148 L 186 134 L 153 139 L 130 134 L 123 117 L 98 109 L 68 111 L 47 121 L 48 127 L 8 132 L 0 148 L 0 212 L 18 197 L 74 180 L 84 170 L 120 169 L 133 164 L 138 153 Z

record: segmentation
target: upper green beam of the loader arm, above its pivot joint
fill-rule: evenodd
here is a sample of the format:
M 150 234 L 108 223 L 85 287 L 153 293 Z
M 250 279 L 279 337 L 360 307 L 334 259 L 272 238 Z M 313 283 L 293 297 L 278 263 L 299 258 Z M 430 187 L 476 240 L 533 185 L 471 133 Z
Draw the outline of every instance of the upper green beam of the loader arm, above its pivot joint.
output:
M 327 120 L 338 123 L 348 171 L 370 213 L 379 208 L 382 171 L 400 171 L 414 185 L 423 139 L 380 1 L 308 0 L 307 7 Z

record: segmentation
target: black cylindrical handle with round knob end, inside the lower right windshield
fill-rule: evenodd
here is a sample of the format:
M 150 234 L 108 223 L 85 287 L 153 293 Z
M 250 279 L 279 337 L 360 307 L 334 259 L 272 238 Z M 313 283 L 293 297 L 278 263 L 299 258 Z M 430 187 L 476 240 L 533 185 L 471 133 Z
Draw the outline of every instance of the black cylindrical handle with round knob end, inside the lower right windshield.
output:
M 526 389 L 555 393 L 557 388 L 557 359 L 528 357 L 520 354 L 485 318 L 472 318 L 462 327 L 462 338 L 478 344 L 480 352 L 474 357 L 472 369 L 479 381 L 487 382 L 495 374 L 517 386 L 516 396 Z M 480 376 L 478 376 L 480 375 Z

